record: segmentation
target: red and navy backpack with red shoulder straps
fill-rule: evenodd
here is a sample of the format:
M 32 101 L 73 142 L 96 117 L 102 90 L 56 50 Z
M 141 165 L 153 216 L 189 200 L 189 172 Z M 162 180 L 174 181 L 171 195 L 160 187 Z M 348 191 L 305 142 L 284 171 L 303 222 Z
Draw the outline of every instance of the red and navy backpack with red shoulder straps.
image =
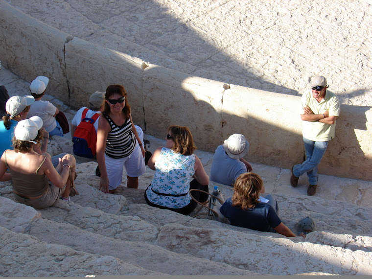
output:
M 93 158 L 96 153 L 97 134 L 94 122 L 100 114 L 94 114 L 92 118 L 86 118 L 88 109 L 84 109 L 81 122 L 73 133 L 73 153 L 80 157 Z

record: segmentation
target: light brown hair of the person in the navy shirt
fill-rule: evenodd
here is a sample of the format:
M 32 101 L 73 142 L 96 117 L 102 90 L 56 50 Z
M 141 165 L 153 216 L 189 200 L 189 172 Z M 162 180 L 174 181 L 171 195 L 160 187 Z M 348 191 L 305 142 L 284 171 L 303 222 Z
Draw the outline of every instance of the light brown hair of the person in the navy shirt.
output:
M 259 193 L 262 189 L 261 177 L 253 172 L 246 172 L 236 179 L 232 194 L 232 206 L 246 210 L 254 208 L 259 203 Z

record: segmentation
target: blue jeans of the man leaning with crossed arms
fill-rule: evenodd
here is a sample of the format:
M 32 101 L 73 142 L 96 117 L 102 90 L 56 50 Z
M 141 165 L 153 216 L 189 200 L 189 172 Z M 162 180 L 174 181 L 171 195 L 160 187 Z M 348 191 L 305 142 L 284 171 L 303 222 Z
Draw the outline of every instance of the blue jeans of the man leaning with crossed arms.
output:
M 293 174 L 300 177 L 306 172 L 309 184 L 318 185 L 318 164 L 326 152 L 328 141 L 313 141 L 303 138 L 303 144 L 305 145 L 306 160 L 293 167 Z

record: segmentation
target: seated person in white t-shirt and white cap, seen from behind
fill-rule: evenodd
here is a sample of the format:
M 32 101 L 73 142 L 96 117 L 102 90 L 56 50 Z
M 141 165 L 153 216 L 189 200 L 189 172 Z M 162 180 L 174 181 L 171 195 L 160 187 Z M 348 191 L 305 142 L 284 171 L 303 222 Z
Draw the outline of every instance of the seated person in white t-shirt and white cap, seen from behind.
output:
M 49 79 L 42 75 L 31 82 L 30 92 L 35 98 L 35 103 L 31 106 L 28 117 L 40 116 L 43 119 L 44 128 L 49 133 L 49 136 L 63 137 L 62 128 L 55 119 L 55 116 L 59 113 L 58 108 L 48 101 L 41 100 L 45 95 L 48 83 Z

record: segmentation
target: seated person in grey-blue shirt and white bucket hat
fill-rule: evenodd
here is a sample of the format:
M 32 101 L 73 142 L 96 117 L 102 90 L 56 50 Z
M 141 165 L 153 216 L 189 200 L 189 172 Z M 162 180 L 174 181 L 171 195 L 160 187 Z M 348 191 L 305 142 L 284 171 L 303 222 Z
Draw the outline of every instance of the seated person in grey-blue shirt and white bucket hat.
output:
M 243 159 L 248 150 L 249 143 L 243 135 L 231 135 L 214 151 L 210 180 L 232 186 L 240 174 L 251 172 L 251 164 Z

